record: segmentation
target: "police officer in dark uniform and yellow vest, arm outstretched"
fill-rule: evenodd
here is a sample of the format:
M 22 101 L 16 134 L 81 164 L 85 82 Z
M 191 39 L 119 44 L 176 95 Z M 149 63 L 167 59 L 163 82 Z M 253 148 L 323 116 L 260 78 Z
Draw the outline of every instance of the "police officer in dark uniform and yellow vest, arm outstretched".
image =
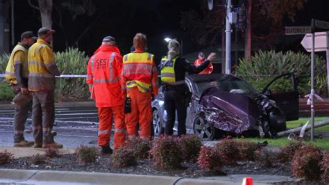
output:
M 177 40 L 170 40 L 168 49 L 168 55 L 163 57 L 160 63 L 161 81 L 165 94 L 165 110 L 167 111 L 165 134 L 173 134 L 177 110 L 178 136 L 181 136 L 186 134 L 187 106 L 185 99 L 188 89 L 185 85 L 185 72 L 197 74 L 205 70 L 216 54 L 211 53 L 206 61 L 199 66 L 195 66 L 193 63 L 185 61 L 184 58 L 180 58 L 180 44 Z

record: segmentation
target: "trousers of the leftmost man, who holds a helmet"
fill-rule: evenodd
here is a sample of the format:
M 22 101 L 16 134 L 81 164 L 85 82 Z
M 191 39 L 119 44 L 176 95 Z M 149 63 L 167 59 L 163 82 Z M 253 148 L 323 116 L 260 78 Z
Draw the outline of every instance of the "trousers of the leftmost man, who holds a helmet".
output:
M 20 88 L 17 85 L 12 85 L 12 92 L 17 95 L 19 93 Z M 14 115 L 14 143 L 19 143 L 24 138 L 24 129 L 25 122 L 28 118 L 28 111 L 31 110 L 32 100 L 27 102 L 22 106 L 18 106 L 15 104 L 15 115 Z

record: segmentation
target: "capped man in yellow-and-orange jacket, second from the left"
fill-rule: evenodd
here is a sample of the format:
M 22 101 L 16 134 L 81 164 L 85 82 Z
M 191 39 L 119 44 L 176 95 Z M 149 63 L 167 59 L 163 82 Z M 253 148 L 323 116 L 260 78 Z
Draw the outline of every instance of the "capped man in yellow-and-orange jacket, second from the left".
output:
M 33 95 L 33 147 L 62 148 L 53 140 L 53 122 L 55 121 L 55 76 L 60 75 L 53 49 L 54 30 L 42 27 L 37 31 L 37 42 L 28 49 L 28 90 Z

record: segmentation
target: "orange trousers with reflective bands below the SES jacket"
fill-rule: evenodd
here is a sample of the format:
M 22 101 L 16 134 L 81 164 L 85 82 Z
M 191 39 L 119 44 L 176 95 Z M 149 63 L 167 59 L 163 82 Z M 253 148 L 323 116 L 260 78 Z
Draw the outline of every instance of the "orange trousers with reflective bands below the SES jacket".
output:
M 126 124 L 124 123 L 124 106 L 99 107 L 99 136 L 98 144 L 106 146 L 110 143 L 112 117 L 115 118 L 114 148 L 124 145 L 126 139 Z M 113 116 L 114 115 L 114 116 Z

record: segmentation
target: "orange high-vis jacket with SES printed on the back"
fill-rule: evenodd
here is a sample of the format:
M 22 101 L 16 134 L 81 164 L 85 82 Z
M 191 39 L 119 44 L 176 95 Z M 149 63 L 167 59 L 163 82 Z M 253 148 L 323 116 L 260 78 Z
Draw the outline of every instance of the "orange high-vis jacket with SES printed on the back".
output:
M 120 75 L 122 56 L 117 47 L 101 45 L 87 65 L 87 79 L 96 107 L 124 104 L 121 97 Z

